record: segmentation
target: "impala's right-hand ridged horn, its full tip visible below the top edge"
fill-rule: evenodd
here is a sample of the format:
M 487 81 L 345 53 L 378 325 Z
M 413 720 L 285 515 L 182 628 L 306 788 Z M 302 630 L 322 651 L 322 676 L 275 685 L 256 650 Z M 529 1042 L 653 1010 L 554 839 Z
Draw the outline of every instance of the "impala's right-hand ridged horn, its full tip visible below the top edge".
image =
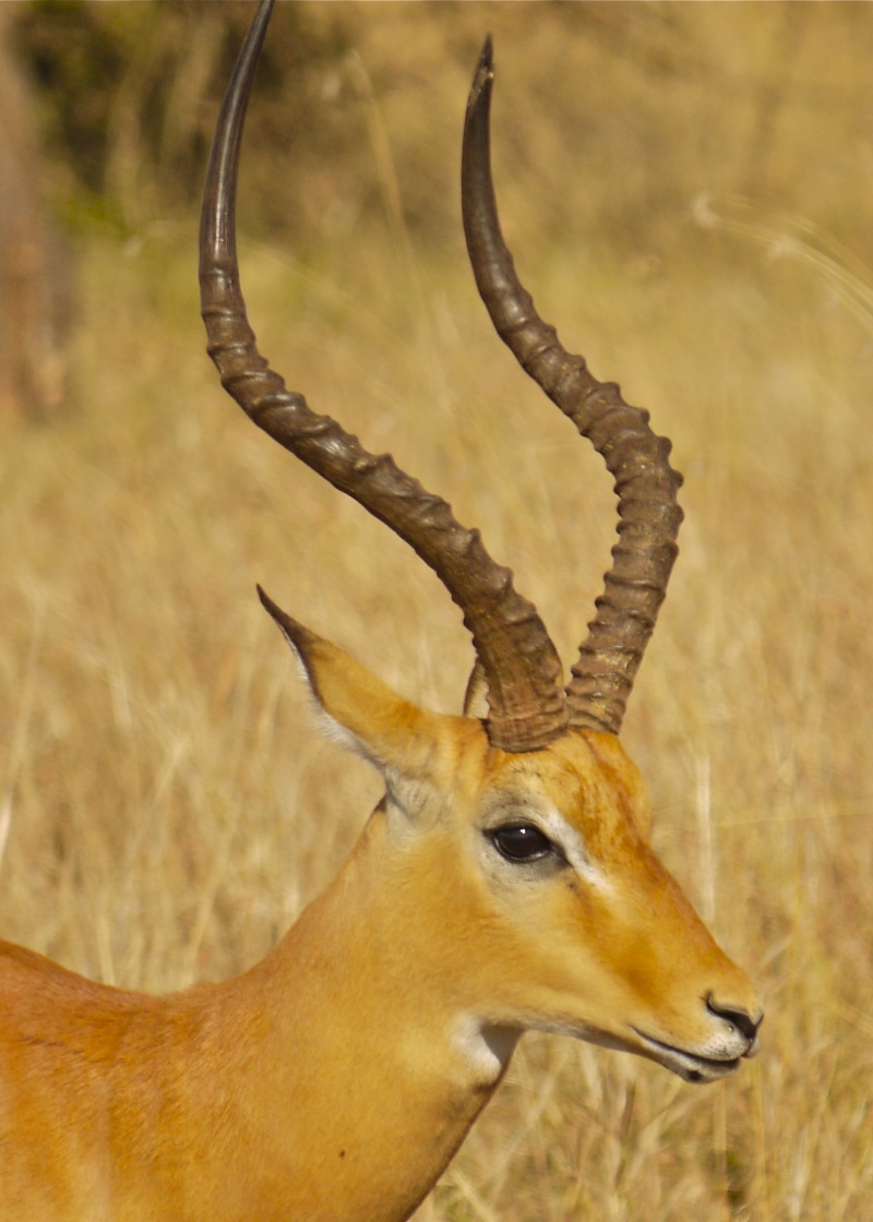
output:
M 494 62 L 485 40 L 467 103 L 461 196 L 467 249 L 482 299 L 522 368 L 603 456 L 619 496 L 619 543 L 567 687 L 570 722 L 619 732 L 627 698 L 676 558 L 682 511 L 670 442 L 628 407 L 615 382 L 599 382 L 567 353 L 516 276 L 500 232 L 490 167 Z

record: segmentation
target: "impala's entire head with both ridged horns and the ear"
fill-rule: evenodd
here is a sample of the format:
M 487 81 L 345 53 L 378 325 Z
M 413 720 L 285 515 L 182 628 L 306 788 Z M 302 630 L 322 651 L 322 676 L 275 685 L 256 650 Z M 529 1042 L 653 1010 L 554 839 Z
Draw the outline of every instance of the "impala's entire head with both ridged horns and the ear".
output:
M 565 684 L 555 646 L 512 576 L 449 505 L 286 390 L 256 348 L 240 290 L 234 200 L 242 125 L 270 5 L 256 18 L 219 121 L 202 229 L 209 353 L 271 437 L 406 539 L 463 612 L 488 715 L 423 712 L 262 593 L 326 716 L 386 777 L 375 814 L 429 919 L 397 938 L 444 940 L 471 1029 L 566 1031 L 686 1078 L 718 1078 L 757 1047 L 761 1008 L 647 844 L 648 808 L 617 733 L 676 555 L 681 477 L 648 413 L 569 354 L 537 314 L 504 243 L 492 185 L 490 39 L 467 106 L 462 211 L 479 293 L 525 370 L 615 478 L 619 534 L 597 615 Z M 477 687 L 471 682 L 471 688 Z M 468 704 L 471 703 L 468 698 Z M 465 714 L 470 709 L 465 708 Z M 421 873 L 419 873 L 421 871 Z M 418 953 L 428 960 L 427 948 Z M 465 952 L 466 953 L 466 952 Z M 446 963 L 445 948 L 440 958 Z M 511 1042 L 511 1041 L 510 1041 Z

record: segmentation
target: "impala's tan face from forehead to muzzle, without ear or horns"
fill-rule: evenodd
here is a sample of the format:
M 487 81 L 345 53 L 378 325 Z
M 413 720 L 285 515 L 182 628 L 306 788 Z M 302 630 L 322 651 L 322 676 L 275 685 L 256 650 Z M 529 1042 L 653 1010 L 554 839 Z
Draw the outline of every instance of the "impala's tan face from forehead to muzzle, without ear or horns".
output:
M 617 738 L 571 731 L 520 755 L 485 744 L 478 772 L 473 785 L 466 752 L 421 849 L 434 854 L 428 876 L 444 876 L 445 910 L 461 863 L 444 836 L 465 844 L 456 937 L 484 952 L 462 984 L 483 1026 L 576 1035 L 690 1080 L 751 1055 L 761 1007 L 652 852 L 646 793 Z

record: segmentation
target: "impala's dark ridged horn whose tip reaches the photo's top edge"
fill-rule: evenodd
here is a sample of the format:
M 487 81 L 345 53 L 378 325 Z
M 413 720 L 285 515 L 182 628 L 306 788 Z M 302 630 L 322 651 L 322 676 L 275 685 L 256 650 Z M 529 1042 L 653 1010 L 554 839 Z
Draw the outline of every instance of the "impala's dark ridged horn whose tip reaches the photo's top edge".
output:
M 512 587 L 478 530 L 405 474 L 390 455 L 312 412 L 259 354 L 248 325 L 236 257 L 235 197 L 242 126 L 273 0 L 262 0 L 240 53 L 215 133 L 201 219 L 201 303 L 208 352 L 221 384 L 275 441 L 353 497 L 434 569 L 463 612 L 488 677 L 488 736 L 507 752 L 536 750 L 566 730 L 561 665 L 536 607 Z

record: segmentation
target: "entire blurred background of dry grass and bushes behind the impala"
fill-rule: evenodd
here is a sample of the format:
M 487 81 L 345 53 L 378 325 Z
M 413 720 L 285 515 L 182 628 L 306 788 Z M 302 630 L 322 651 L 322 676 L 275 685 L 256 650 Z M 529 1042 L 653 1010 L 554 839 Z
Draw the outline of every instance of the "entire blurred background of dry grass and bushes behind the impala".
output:
M 149 990 L 263 954 L 379 797 L 256 580 L 418 703 L 457 710 L 472 661 L 435 578 L 205 357 L 198 194 L 251 11 L 0 5 L 0 931 Z M 686 475 L 622 737 L 768 1018 L 705 1090 L 527 1037 L 418 1217 L 867 1222 L 873 6 L 278 6 L 240 191 L 262 348 L 482 527 L 569 665 L 614 500 L 466 265 L 489 31 L 520 274 Z

